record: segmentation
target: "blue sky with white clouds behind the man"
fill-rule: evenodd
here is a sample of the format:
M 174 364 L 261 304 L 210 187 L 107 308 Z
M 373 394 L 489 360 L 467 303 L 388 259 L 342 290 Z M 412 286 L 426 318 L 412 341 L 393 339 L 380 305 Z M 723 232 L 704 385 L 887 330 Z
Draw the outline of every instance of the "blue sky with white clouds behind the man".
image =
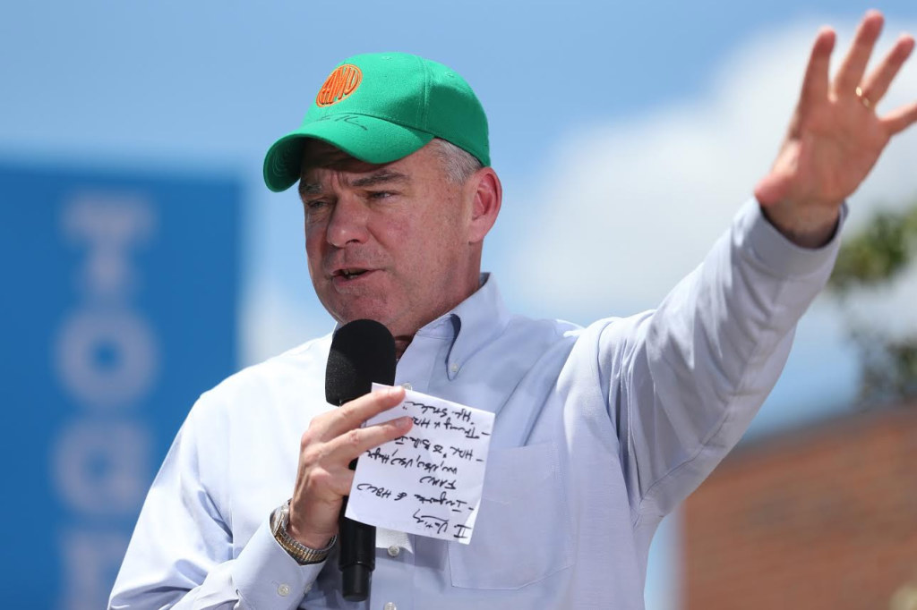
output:
M 330 328 L 308 281 L 295 195 L 260 182 L 264 152 L 298 125 L 339 60 L 418 53 L 462 73 L 490 117 L 505 201 L 485 267 L 514 310 L 585 323 L 652 307 L 699 262 L 767 170 L 815 30 L 834 24 L 844 47 L 869 6 L 6 3 L 0 158 L 237 173 L 247 364 Z M 886 42 L 917 30 L 912 0 L 872 6 L 886 13 Z M 890 98 L 917 97 L 915 66 L 899 81 Z M 880 163 L 851 200 L 853 225 L 917 193 L 917 134 Z M 905 281 L 858 306 L 917 323 L 898 315 L 915 289 Z M 842 412 L 855 387 L 842 323 L 821 300 L 752 433 Z M 654 550 L 651 608 L 672 604 L 672 538 L 667 530 Z

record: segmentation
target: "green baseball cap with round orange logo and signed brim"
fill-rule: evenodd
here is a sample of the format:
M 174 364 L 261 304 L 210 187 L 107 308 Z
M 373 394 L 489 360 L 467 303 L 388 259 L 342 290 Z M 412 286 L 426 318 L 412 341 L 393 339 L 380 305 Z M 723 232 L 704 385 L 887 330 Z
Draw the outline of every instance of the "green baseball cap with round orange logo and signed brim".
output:
M 407 157 L 439 137 L 491 164 L 487 116 L 455 71 L 407 53 L 367 53 L 343 60 L 328 75 L 303 125 L 274 142 L 264 158 L 271 191 L 299 180 L 308 138 L 323 140 L 368 163 Z

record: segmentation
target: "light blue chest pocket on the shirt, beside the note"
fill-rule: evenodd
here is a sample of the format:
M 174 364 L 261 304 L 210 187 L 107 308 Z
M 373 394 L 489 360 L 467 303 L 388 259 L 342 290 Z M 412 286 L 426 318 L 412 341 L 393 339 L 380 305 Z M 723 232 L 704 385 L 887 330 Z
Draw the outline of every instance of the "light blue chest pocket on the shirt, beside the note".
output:
M 551 443 L 492 451 L 470 544 L 447 545 L 452 585 L 519 589 L 573 562 L 569 508 Z

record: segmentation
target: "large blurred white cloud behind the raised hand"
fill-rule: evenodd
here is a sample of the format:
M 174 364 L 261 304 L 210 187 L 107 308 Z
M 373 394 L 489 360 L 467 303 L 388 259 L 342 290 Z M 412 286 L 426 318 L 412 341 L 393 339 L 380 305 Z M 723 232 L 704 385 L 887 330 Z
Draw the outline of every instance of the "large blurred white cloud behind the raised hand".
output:
M 702 260 L 767 171 L 817 27 L 748 40 L 700 99 L 570 134 L 553 155 L 547 182 L 530 191 L 536 194 L 527 206 L 537 212 L 510 263 L 519 296 L 578 319 L 607 315 L 592 309 L 597 303 L 623 312 L 653 307 Z M 915 27 L 887 27 L 900 29 Z M 835 63 L 852 31 L 840 29 Z M 886 38 L 883 54 L 895 37 Z M 913 65 L 902 71 L 880 111 L 917 99 L 915 74 Z M 851 225 L 877 202 L 912 201 L 915 166 L 917 133 L 909 133 L 852 198 Z

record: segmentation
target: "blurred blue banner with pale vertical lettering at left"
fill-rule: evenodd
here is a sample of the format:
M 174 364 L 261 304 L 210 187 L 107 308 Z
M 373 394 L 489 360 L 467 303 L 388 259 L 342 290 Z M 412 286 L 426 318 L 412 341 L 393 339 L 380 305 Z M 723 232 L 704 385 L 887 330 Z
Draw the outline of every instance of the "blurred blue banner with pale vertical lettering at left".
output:
M 105 607 L 175 432 L 237 364 L 240 200 L 0 165 L 4 606 Z

